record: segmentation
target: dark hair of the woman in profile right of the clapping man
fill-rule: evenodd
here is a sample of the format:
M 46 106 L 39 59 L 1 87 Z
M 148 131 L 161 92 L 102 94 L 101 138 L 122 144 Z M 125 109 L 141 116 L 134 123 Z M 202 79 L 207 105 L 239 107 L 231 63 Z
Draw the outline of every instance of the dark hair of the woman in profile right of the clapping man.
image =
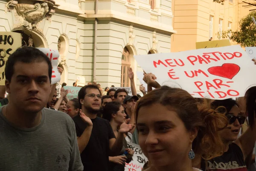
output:
M 109 122 L 111 121 L 112 114 L 116 114 L 119 111 L 119 108 L 122 104 L 117 101 L 111 101 L 106 104 L 103 109 L 103 119 L 107 119 Z

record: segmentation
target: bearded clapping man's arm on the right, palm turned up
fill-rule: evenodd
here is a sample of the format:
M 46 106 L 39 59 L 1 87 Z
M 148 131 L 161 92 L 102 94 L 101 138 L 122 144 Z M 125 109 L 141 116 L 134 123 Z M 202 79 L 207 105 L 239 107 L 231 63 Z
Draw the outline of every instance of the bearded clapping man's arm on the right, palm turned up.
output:
M 124 133 L 130 132 L 134 128 L 134 125 L 127 124 L 129 122 L 130 119 L 127 119 L 126 122 L 120 125 L 120 129 L 116 139 L 109 139 L 110 156 L 117 156 L 122 150 Z

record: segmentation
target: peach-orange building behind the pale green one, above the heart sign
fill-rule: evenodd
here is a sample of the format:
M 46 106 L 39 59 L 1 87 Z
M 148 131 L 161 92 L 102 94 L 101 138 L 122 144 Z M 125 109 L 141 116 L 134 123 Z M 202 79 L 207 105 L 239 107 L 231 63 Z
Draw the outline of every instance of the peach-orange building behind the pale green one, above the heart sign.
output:
M 226 31 L 231 26 L 233 31 L 239 29 L 238 22 L 249 13 L 242 0 L 226 0 L 224 5 L 213 0 L 173 0 L 173 28 L 177 34 L 172 35 L 172 52 L 195 49 L 200 41 L 218 40 L 217 33 Z M 210 16 L 212 22 L 210 23 Z M 221 20 L 221 21 L 220 21 Z M 212 34 L 210 34 L 212 25 Z M 236 44 L 231 42 L 231 44 Z

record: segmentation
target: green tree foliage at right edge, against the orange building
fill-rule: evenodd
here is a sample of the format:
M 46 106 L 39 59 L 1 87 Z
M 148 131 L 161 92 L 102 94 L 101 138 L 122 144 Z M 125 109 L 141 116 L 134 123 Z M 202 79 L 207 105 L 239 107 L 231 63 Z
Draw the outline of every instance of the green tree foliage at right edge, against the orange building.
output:
M 227 30 L 224 32 L 218 32 L 218 38 L 230 38 L 232 41 L 236 41 L 241 46 L 256 46 L 256 25 L 253 23 L 254 17 L 256 19 L 256 11 L 250 12 L 247 16 L 239 21 L 239 30 L 232 32 Z

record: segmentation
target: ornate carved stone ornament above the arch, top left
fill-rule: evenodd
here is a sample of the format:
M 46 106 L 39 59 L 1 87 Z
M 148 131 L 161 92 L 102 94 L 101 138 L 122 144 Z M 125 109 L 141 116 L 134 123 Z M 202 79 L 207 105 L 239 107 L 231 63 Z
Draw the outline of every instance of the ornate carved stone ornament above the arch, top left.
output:
M 37 29 L 39 32 L 42 32 L 38 29 L 38 23 L 44 18 L 50 20 L 52 14 L 55 13 L 54 5 L 54 0 L 35 0 L 34 4 L 18 3 L 18 0 L 9 0 L 5 11 L 14 11 L 15 19 L 19 20 L 15 28 L 23 26 L 30 31 Z

